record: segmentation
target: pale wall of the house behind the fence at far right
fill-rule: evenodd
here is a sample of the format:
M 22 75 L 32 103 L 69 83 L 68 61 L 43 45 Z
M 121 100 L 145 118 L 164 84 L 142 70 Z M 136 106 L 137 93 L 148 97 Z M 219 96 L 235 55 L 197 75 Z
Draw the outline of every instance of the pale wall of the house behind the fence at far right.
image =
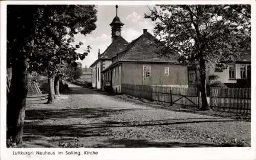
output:
M 249 65 L 249 64 L 234 64 L 236 67 L 236 71 L 235 71 L 235 75 L 234 78 L 235 79 L 230 79 L 229 78 L 229 69 L 224 69 L 222 71 L 215 71 L 215 69 L 211 68 L 207 71 L 207 81 L 208 81 L 208 76 L 215 74 L 218 75 L 220 78 L 218 79 L 218 81 L 222 82 L 222 83 L 237 83 L 236 79 L 240 79 L 241 78 L 241 65 Z M 247 67 L 246 66 L 246 67 Z

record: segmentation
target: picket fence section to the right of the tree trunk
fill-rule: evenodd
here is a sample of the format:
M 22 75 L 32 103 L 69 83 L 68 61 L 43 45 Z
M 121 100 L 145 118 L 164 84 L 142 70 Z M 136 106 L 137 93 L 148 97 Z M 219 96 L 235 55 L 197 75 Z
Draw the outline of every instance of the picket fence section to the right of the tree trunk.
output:
M 211 88 L 210 106 L 212 110 L 250 114 L 250 88 Z

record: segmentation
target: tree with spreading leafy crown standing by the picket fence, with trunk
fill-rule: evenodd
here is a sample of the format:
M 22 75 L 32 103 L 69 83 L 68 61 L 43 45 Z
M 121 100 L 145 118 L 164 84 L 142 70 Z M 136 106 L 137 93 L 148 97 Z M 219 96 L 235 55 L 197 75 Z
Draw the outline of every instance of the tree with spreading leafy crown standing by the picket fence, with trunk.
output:
M 156 22 L 160 56 L 177 54 L 182 64 L 197 67 L 201 110 L 208 109 L 206 70 L 225 69 L 239 58 L 241 41 L 250 37 L 250 6 L 157 5 L 144 17 Z

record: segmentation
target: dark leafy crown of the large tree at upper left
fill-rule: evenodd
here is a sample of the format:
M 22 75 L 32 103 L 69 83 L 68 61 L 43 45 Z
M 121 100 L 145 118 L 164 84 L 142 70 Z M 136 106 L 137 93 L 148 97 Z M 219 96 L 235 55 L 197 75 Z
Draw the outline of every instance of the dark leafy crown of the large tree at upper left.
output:
M 27 5 L 7 7 L 8 66 L 25 56 L 29 71 L 51 75 L 61 65 L 83 60 L 90 52 L 79 54 L 74 35 L 90 34 L 96 29 L 97 10 L 93 5 Z M 20 54 L 22 52 L 22 54 Z

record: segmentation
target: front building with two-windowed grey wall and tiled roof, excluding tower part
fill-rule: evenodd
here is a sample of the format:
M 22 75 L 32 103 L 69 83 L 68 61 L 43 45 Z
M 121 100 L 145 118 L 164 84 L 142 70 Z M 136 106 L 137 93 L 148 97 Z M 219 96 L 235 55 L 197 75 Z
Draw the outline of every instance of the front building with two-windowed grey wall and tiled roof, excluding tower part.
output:
M 143 34 L 112 58 L 112 64 L 102 71 L 103 88 L 121 92 L 122 84 L 188 87 L 187 67 L 175 55 L 160 57 L 156 38 Z

